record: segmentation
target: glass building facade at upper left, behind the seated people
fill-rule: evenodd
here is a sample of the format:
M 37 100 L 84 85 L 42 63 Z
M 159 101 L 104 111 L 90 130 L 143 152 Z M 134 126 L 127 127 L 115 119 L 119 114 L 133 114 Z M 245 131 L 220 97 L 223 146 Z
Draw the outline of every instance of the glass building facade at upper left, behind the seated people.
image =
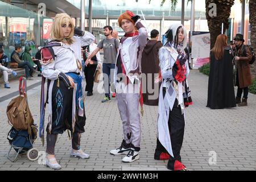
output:
M 43 46 L 49 39 L 52 22 L 53 19 L 32 10 L 0 1 L 0 47 L 10 56 L 16 45 L 28 45 L 34 55 L 37 47 Z

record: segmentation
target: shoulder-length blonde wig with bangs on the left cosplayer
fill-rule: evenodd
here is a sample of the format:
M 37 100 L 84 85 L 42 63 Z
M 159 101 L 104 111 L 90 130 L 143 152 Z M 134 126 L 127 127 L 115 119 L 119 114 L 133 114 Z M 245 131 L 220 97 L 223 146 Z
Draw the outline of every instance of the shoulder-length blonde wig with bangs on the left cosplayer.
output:
M 64 24 L 64 23 L 66 23 L 67 26 L 69 26 L 69 24 L 72 25 L 71 33 L 69 34 L 68 37 L 63 36 L 63 32 L 62 32 L 62 29 L 61 29 L 61 24 Z M 52 27 L 51 27 L 51 33 L 50 33 L 51 39 L 52 40 L 59 40 L 61 42 L 66 42 L 67 41 L 68 44 L 72 44 L 73 43 L 74 28 L 75 28 L 75 26 L 73 24 L 73 21 L 72 21 L 71 17 L 68 14 L 66 14 L 66 13 L 57 14 L 55 16 L 55 19 L 54 19 Z

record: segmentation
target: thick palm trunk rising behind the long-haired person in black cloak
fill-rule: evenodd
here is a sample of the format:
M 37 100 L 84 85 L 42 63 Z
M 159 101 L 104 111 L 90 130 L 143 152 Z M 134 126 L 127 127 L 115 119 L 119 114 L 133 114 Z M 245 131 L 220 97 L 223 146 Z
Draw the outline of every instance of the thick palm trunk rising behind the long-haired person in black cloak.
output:
M 210 3 L 217 5 L 217 16 L 210 16 L 209 11 L 212 7 L 208 7 Z M 221 34 L 221 26 L 224 23 L 224 31 L 229 27 L 229 16 L 231 7 L 234 5 L 234 0 L 206 0 L 205 1 L 205 15 L 210 31 L 210 49 L 213 48 L 217 36 Z

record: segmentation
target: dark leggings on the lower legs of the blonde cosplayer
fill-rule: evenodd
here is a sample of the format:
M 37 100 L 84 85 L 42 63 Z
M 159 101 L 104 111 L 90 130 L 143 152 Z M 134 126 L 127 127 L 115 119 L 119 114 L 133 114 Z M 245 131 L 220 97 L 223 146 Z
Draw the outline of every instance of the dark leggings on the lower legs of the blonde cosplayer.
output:
M 47 140 L 47 147 L 46 152 L 49 155 L 55 155 L 55 144 L 57 141 L 58 134 L 49 134 L 47 132 L 46 140 Z M 81 140 L 81 133 L 74 133 L 72 137 L 72 148 L 74 150 L 80 150 L 80 140 Z

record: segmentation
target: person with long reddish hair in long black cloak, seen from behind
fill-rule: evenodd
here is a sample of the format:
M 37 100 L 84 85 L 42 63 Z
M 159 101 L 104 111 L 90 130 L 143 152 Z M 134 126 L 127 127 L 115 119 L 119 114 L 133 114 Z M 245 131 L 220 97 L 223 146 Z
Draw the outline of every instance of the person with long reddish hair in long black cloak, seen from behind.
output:
M 234 56 L 227 40 L 226 35 L 218 35 L 216 43 L 210 51 L 207 100 L 207 107 L 210 107 L 210 109 L 236 107 L 232 63 Z

